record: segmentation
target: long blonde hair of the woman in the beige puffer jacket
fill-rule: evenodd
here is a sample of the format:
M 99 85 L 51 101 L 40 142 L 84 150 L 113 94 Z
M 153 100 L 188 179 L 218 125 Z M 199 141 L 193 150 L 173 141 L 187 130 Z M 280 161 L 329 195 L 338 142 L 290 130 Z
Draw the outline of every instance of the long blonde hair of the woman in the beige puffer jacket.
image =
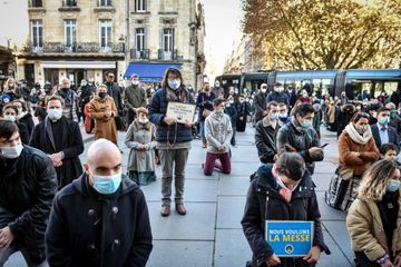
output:
M 358 197 L 379 201 L 383 198 L 387 185 L 392 179 L 397 165 L 390 160 L 379 160 L 364 172 L 358 189 Z

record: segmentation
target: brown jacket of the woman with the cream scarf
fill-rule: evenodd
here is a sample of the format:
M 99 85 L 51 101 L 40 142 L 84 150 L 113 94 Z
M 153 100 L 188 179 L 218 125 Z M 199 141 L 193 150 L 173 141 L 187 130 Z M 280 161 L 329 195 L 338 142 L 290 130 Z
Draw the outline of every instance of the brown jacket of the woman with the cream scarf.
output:
M 355 157 L 351 152 L 360 152 Z M 379 159 L 379 149 L 373 137 L 364 145 L 354 142 L 346 131 L 339 138 L 339 167 L 346 167 L 354 170 L 354 175 L 363 175 L 368 166 Z

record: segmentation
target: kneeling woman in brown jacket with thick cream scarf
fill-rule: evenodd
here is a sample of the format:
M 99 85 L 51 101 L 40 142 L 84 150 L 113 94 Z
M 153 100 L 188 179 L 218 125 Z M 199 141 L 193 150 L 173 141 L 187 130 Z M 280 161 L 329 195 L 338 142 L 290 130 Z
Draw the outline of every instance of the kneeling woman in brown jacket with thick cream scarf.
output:
M 339 177 L 333 177 L 326 202 L 333 208 L 348 210 L 356 197 L 356 189 L 368 166 L 379 159 L 369 115 L 354 115 L 339 138 Z

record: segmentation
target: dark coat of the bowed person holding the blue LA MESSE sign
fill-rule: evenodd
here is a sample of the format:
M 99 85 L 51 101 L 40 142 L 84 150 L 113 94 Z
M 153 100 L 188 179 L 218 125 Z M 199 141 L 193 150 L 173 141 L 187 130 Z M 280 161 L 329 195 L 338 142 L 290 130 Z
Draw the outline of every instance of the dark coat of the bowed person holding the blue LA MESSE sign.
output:
M 266 260 L 274 254 L 265 239 L 265 220 L 314 221 L 313 246 L 319 246 L 330 254 L 323 240 L 321 214 L 311 175 L 305 171 L 288 204 L 278 194 L 280 188 L 272 175 L 272 167 L 273 165 L 267 164 L 257 170 L 257 178 L 252 181 L 247 192 L 245 211 L 241 221 L 254 254 L 253 266 L 267 266 Z M 302 258 L 281 258 L 281 261 L 278 267 L 314 266 L 303 261 Z

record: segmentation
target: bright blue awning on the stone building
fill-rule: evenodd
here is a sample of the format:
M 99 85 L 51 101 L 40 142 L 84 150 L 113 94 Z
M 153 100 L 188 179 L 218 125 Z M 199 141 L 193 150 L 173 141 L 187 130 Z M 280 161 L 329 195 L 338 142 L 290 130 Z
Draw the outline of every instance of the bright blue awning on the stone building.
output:
M 159 82 L 167 68 L 180 69 L 180 63 L 129 63 L 124 75 L 129 79 L 131 75 L 137 73 L 139 80 L 144 82 Z

